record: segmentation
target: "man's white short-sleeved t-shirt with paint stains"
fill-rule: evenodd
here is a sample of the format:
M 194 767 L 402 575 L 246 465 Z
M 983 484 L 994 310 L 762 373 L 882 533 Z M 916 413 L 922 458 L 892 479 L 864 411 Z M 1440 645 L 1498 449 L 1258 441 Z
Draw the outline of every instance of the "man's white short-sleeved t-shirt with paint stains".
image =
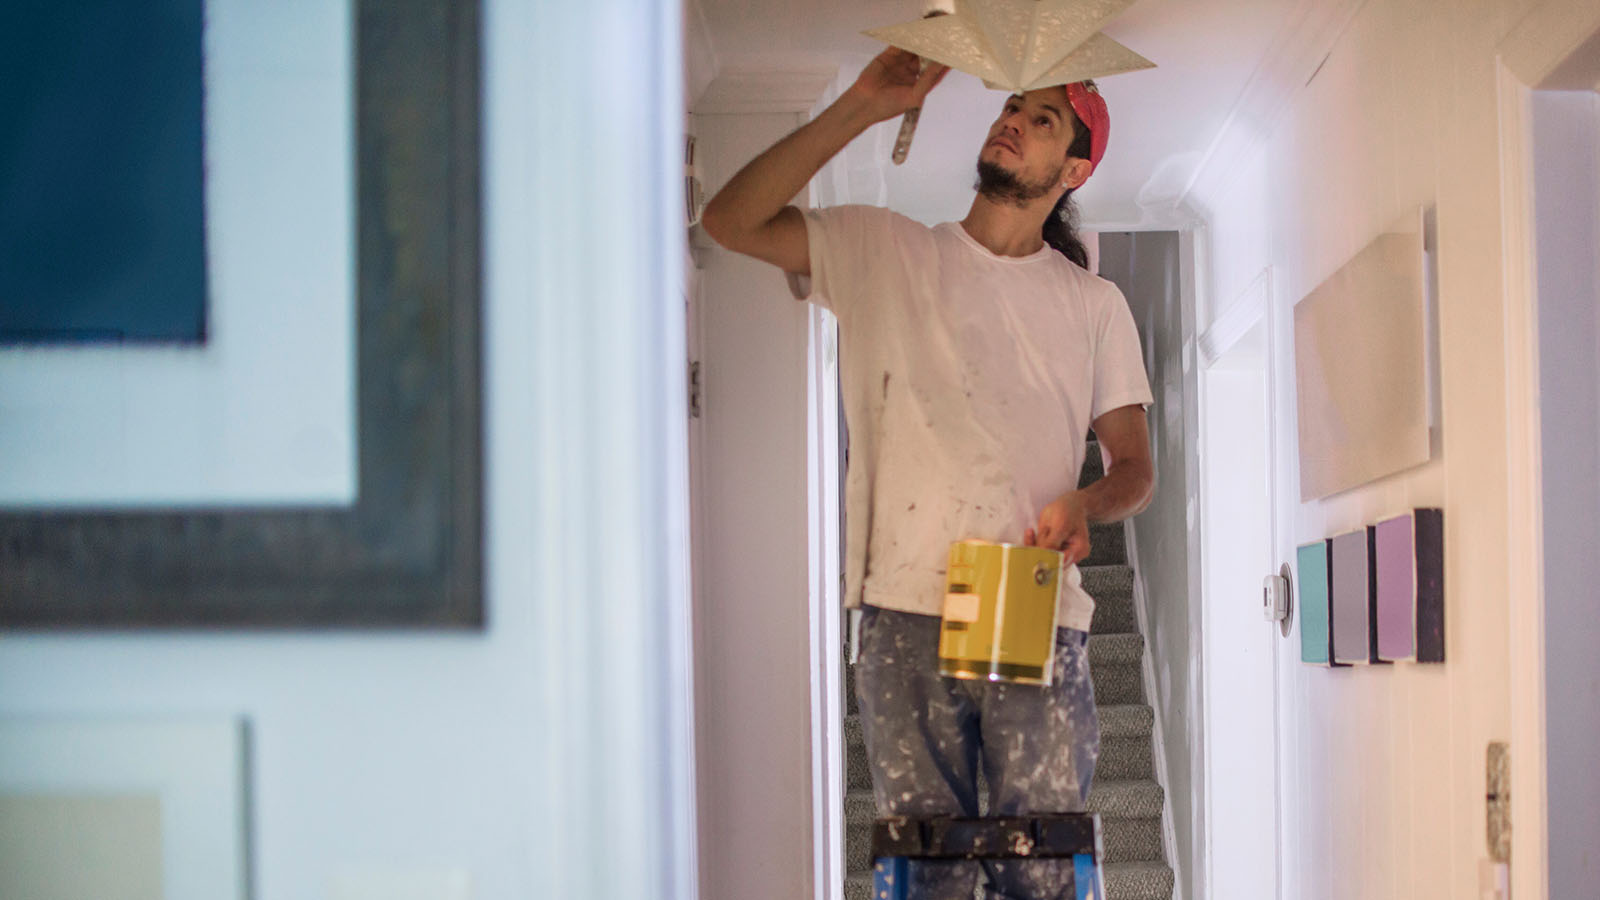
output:
M 1048 245 L 997 256 L 878 207 L 805 218 L 792 287 L 840 327 L 845 602 L 939 615 L 950 541 L 1021 543 L 1077 487 L 1091 423 L 1150 404 L 1133 315 Z M 1080 583 L 1072 567 L 1058 623 L 1088 631 Z

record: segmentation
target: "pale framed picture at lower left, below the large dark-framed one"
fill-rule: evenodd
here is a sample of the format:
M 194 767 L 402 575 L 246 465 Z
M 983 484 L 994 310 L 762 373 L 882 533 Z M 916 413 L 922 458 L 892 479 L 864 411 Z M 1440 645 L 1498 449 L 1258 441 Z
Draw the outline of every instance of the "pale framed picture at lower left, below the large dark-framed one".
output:
M 250 897 L 237 717 L 0 719 L 0 897 Z

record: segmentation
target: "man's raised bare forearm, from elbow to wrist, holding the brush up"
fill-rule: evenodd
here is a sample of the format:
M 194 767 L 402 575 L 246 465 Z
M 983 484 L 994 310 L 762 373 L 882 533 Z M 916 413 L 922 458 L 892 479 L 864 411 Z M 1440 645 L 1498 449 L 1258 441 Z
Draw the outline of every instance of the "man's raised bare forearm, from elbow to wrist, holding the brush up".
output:
M 766 224 L 872 123 L 866 104 L 845 91 L 821 115 L 750 160 L 710 199 L 701 219 L 706 232 L 726 242 Z

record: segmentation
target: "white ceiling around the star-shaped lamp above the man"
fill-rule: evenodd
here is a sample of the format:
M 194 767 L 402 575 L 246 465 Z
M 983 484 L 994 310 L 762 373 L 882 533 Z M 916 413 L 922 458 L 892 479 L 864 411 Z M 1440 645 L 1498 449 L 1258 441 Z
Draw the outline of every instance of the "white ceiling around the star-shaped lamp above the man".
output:
M 869 27 L 915 19 L 922 0 L 698 2 L 722 70 L 853 75 L 882 43 Z M 1106 160 L 1078 192 L 1090 227 L 1171 227 L 1189 186 L 1269 46 L 1304 14 L 1290 0 L 1138 0 L 1106 34 L 1157 64 L 1101 82 L 1110 107 Z M 693 14 L 693 11 L 691 11 Z M 928 98 L 904 167 L 886 173 L 890 207 L 936 223 L 971 203 L 974 160 L 1003 96 L 952 72 Z

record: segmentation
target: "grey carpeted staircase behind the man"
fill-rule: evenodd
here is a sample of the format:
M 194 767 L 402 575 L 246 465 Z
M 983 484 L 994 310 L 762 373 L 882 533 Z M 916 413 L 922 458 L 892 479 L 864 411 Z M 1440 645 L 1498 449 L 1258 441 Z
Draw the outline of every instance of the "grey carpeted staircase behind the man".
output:
M 1102 474 L 1099 444 L 1090 442 L 1080 485 Z M 1144 636 L 1133 613 L 1133 569 L 1123 527 L 1093 525 L 1093 552 L 1080 564 L 1083 588 L 1094 597 L 1090 673 L 1101 722 L 1101 756 L 1090 790 L 1090 812 L 1101 814 L 1106 838 L 1106 900 L 1171 900 L 1173 870 L 1162 847 L 1162 806 L 1155 783 L 1150 729 L 1155 714 L 1144 700 Z M 854 666 L 845 666 L 845 900 L 872 895 L 872 780 L 856 709 Z

